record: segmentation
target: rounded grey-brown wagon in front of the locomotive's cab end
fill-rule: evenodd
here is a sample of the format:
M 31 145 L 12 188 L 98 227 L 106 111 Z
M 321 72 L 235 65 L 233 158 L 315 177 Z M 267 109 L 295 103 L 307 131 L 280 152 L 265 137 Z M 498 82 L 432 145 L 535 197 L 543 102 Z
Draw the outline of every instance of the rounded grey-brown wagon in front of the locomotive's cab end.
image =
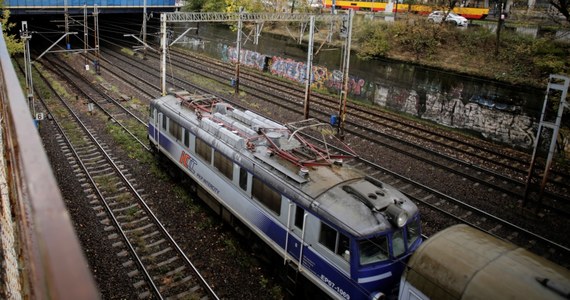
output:
M 455 225 L 412 255 L 399 299 L 570 299 L 570 271 L 478 229 Z

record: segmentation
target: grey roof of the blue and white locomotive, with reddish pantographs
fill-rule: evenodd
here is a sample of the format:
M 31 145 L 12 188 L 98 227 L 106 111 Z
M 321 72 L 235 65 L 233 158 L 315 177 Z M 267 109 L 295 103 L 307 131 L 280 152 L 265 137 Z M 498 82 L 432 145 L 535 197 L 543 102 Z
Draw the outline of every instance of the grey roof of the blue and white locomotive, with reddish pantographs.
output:
M 235 109 L 212 95 L 183 92 L 166 95 L 155 103 L 170 108 L 171 118 L 183 118 L 216 136 L 233 151 L 265 166 L 269 173 L 277 175 L 272 176 L 274 181 L 264 178 L 265 181 L 274 186 L 286 181 L 296 187 L 305 196 L 287 196 L 356 236 L 390 227 L 381 212 L 394 201 L 410 216 L 417 212 L 399 191 L 376 180 L 361 180 L 363 173 L 344 164 L 345 159 L 356 156 L 354 152 L 353 156 L 330 153 L 329 143 L 344 144 L 330 137 L 332 127 L 328 124 L 310 119 L 281 125 L 251 111 Z M 322 135 L 324 148 L 300 135 L 307 130 Z M 231 157 L 235 159 L 235 153 Z

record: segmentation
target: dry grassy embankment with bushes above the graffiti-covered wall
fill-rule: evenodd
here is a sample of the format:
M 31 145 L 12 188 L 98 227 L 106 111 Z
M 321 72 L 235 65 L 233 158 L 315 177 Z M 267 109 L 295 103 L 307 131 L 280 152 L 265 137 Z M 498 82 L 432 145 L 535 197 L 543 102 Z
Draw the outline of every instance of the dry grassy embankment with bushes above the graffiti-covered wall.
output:
M 550 74 L 570 74 L 567 59 L 570 42 L 557 39 L 554 34 L 533 37 L 517 33 L 520 25 L 515 24 L 538 25 L 536 21 L 521 23 L 520 14 L 513 17 L 511 23 L 507 22 L 498 47 L 493 21 L 477 21 L 469 28 L 458 28 L 429 24 L 425 16 L 415 14 L 399 13 L 395 22 L 385 21 L 384 16 L 380 13 L 356 15 L 353 55 L 426 66 L 499 81 L 515 88 L 544 89 Z M 542 23 L 542 26 L 547 25 Z M 267 26 L 264 31 L 292 36 L 287 25 Z M 324 26 L 319 28 L 315 43 L 321 43 L 327 33 Z M 337 39 L 336 46 L 340 47 L 341 42 Z

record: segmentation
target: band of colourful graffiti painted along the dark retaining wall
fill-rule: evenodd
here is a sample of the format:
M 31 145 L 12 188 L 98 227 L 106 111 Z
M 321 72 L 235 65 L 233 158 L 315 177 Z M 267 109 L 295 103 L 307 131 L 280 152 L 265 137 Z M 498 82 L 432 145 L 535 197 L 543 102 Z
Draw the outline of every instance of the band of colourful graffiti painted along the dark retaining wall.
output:
M 219 44 L 218 51 L 223 61 L 237 61 L 234 47 Z M 306 64 L 290 58 L 268 57 L 243 50 L 241 62 L 299 83 L 306 80 Z M 338 93 L 343 88 L 343 73 L 313 66 L 311 85 Z M 445 126 L 473 130 L 500 142 L 522 147 L 534 143 L 536 124 L 532 117 L 521 113 L 520 108 L 483 99 L 480 91 L 466 90 L 463 85 L 444 85 L 434 79 L 410 87 L 398 79 L 378 82 L 357 76 L 349 76 L 347 85 L 352 98 L 368 100 Z

